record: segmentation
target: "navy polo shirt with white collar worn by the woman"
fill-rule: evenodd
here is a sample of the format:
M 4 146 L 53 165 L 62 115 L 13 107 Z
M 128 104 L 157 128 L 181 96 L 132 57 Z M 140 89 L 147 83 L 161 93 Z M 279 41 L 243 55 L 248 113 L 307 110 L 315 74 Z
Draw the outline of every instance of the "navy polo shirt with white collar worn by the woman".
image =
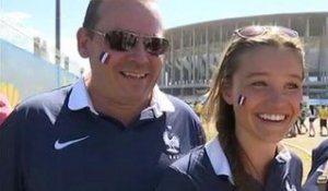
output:
M 251 191 L 301 190 L 301 159 L 283 147 L 272 159 L 266 184 L 245 177 Z M 156 191 L 235 191 L 229 160 L 214 139 L 166 169 Z

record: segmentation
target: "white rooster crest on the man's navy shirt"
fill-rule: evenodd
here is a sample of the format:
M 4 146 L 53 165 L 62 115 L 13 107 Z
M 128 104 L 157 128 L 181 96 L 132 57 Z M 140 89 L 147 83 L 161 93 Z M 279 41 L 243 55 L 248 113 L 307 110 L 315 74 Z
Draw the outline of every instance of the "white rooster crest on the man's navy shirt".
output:
M 172 132 L 171 126 L 166 127 L 163 133 L 163 141 L 169 159 L 177 159 L 180 153 L 180 139 Z

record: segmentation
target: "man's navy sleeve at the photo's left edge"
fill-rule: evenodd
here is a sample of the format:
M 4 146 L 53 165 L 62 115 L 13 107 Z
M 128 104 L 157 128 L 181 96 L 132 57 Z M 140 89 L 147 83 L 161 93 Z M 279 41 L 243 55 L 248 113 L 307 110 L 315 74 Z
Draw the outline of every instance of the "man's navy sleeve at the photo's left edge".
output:
M 13 111 L 0 127 L 0 190 L 23 191 L 19 114 Z

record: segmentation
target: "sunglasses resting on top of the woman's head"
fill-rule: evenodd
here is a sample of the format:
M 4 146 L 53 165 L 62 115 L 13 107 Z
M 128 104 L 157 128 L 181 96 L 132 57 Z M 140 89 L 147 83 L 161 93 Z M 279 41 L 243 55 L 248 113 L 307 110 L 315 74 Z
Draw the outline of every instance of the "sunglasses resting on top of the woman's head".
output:
M 294 29 L 283 27 L 283 26 L 260 26 L 260 25 L 251 25 L 242 28 L 237 28 L 234 31 L 233 36 L 238 36 L 241 38 L 251 38 L 256 36 L 265 35 L 268 32 L 276 31 L 279 34 L 285 35 L 288 37 L 296 38 L 298 37 L 298 33 Z

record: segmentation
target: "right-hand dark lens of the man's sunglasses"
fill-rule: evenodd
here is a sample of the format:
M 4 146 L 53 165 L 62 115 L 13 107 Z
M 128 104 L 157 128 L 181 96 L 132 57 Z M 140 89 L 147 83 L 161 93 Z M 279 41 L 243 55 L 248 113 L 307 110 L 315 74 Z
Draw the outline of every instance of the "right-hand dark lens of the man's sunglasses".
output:
M 159 37 L 150 37 L 144 38 L 144 47 L 145 50 L 151 55 L 163 55 L 167 51 L 169 47 L 169 43 L 165 38 L 159 38 Z

